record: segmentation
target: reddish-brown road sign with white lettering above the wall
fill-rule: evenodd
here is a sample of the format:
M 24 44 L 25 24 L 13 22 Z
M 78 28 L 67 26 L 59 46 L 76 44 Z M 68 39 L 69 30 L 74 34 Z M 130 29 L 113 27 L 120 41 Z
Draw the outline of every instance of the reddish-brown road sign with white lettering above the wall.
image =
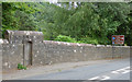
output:
M 112 35 L 112 44 L 124 44 L 124 35 Z

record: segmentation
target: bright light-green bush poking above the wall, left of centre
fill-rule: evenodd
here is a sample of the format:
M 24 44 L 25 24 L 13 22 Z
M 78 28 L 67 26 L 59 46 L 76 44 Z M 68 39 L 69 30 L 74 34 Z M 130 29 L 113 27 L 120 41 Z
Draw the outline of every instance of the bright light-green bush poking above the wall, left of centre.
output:
M 55 40 L 58 42 L 68 42 L 68 43 L 76 43 L 75 38 L 72 38 L 70 36 L 64 36 L 64 35 L 58 35 Z

